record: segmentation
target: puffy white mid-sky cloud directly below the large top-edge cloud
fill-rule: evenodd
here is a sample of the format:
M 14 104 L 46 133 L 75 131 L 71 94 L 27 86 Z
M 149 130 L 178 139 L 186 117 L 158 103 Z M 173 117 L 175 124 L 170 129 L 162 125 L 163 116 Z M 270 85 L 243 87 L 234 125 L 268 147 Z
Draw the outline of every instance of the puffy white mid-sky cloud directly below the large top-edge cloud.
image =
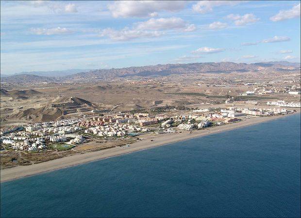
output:
M 151 18 L 145 22 L 140 22 L 136 25 L 138 30 L 172 30 L 182 29 L 183 31 L 194 31 L 195 25 L 187 24 L 182 18 Z

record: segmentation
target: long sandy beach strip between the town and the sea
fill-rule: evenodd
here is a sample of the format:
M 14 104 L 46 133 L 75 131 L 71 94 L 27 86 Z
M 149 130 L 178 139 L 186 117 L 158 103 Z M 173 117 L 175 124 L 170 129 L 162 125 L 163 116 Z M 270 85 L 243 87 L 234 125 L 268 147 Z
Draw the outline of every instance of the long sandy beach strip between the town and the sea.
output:
M 201 138 L 203 136 L 230 131 L 230 130 L 234 130 L 250 125 L 261 124 L 264 122 L 284 118 L 286 116 L 296 115 L 299 113 L 300 112 L 295 112 L 293 114 L 278 115 L 272 117 L 253 117 L 248 120 L 240 121 L 238 123 L 211 127 L 209 128 L 209 131 L 207 131 L 206 129 L 194 130 L 192 131 L 191 134 L 189 133 L 190 131 L 183 130 L 182 133 L 165 133 L 162 135 L 153 135 L 153 134 L 141 135 L 138 138 L 143 138 L 143 140 L 139 140 L 137 142 L 132 143 L 130 147 L 117 146 L 106 150 L 86 152 L 84 154 L 76 154 L 73 156 L 66 156 L 63 158 L 58 158 L 58 159 L 54 159 L 38 164 L 32 164 L 28 166 L 17 166 L 8 169 L 2 169 L 0 170 L 0 183 L 8 182 L 22 177 L 33 176 L 40 173 L 72 167 L 83 163 L 98 161 L 101 159 L 106 159 L 114 156 L 130 154 L 133 152 L 142 151 L 153 147 L 163 146 L 179 141 Z

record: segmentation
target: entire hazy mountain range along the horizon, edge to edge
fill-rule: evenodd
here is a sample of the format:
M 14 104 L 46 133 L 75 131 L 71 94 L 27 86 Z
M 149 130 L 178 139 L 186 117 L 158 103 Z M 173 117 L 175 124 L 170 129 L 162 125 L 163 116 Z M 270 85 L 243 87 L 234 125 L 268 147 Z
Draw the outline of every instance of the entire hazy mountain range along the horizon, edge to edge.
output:
M 290 62 L 260 62 L 260 63 L 234 63 L 234 62 L 205 62 L 186 64 L 158 64 L 142 67 L 126 67 L 120 69 L 99 69 L 67 75 L 65 77 L 41 77 L 34 75 L 14 75 L 1 78 L 1 82 L 13 84 L 34 84 L 41 82 L 75 82 L 94 81 L 96 79 L 110 80 L 124 77 L 161 77 L 174 74 L 198 73 L 232 73 L 232 72 L 261 72 L 261 71 L 290 71 L 300 70 L 300 63 Z

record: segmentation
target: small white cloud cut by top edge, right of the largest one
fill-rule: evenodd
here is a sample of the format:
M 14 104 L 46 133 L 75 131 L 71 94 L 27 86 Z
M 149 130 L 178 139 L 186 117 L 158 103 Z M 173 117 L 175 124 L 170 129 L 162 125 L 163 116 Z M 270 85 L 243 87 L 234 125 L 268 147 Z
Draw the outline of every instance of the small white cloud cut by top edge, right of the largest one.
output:
M 222 5 L 235 5 L 239 1 L 231 0 L 201 0 L 192 6 L 192 10 L 201 14 L 212 12 L 214 7 Z

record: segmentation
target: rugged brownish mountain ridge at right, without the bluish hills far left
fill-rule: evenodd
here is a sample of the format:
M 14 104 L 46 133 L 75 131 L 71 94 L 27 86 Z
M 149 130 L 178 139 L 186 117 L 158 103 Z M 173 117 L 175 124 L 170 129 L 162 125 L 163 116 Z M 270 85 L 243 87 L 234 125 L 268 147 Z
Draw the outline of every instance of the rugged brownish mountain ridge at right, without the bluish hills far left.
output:
M 191 74 L 191 73 L 231 73 L 248 72 L 263 69 L 283 71 L 296 68 L 296 64 L 285 62 L 286 65 L 275 63 L 234 63 L 234 62 L 205 62 L 187 64 L 158 64 L 154 66 L 126 67 L 121 69 L 100 69 L 73 74 L 64 77 L 65 80 L 88 80 L 88 79 L 111 79 L 117 77 L 153 77 L 168 76 L 171 74 Z M 300 66 L 297 66 L 300 67 Z

